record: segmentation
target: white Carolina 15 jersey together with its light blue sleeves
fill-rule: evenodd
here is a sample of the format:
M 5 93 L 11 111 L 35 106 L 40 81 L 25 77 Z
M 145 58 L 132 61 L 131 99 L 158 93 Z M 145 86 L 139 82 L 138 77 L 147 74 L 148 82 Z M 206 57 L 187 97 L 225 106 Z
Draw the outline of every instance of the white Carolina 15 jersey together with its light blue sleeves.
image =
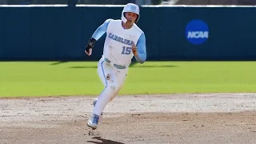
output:
M 107 19 L 94 32 L 93 38 L 98 40 L 106 32 L 103 57 L 120 66 L 129 66 L 134 57 L 132 43 L 138 47 L 138 61 L 146 60 L 146 42 L 143 31 L 136 25 L 130 29 L 122 27 L 122 20 Z

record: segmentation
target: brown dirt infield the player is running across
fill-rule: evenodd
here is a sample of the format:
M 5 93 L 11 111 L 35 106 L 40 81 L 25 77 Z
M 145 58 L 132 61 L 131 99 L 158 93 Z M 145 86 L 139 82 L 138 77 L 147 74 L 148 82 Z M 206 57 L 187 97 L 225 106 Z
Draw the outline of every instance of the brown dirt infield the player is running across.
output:
M 91 130 L 94 98 L 1 98 L 0 143 L 256 143 L 256 94 L 118 96 Z

